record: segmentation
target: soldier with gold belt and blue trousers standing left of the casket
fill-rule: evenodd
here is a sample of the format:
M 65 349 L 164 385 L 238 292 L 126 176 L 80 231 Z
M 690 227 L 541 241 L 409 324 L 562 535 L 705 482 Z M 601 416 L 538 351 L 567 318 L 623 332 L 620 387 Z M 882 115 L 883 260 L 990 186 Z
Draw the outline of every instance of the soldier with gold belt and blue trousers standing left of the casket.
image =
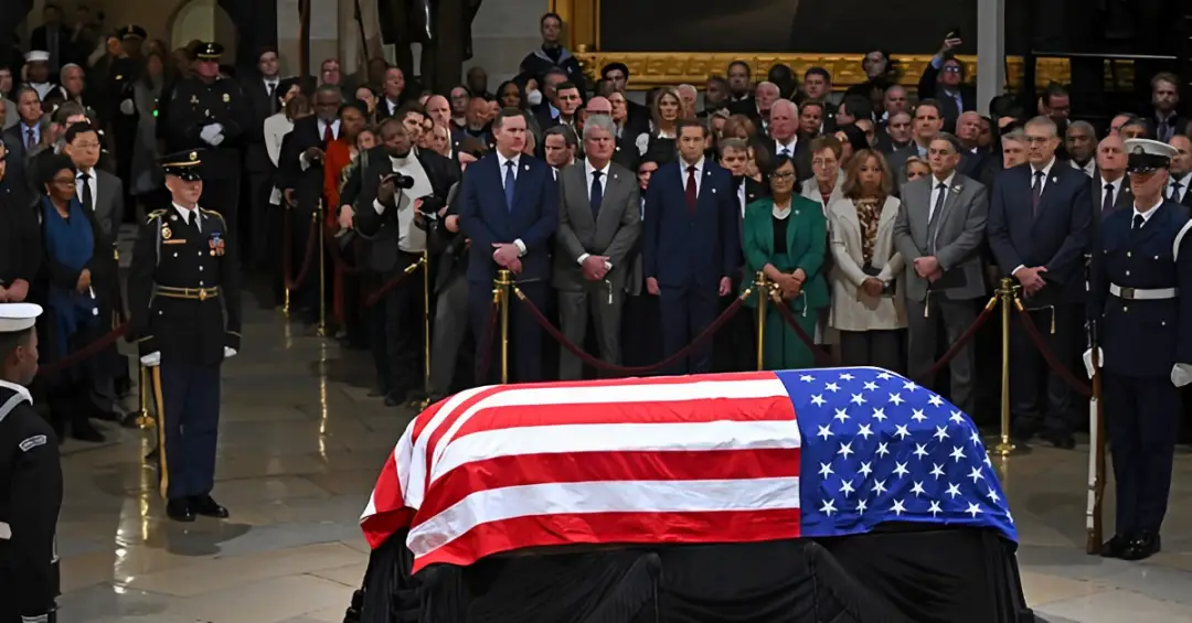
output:
M 240 279 L 218 212 L 199 207 L 199 151 L 161 158 L 172 205 L 149 214 L 132 247 L 130 331 L 150 368 L 157 475 L 166 513 L 224 518 L 211 498 L 219 425 L 219 366 L 240 349 Z M 226 320 L 225 320 L 226 314 Z

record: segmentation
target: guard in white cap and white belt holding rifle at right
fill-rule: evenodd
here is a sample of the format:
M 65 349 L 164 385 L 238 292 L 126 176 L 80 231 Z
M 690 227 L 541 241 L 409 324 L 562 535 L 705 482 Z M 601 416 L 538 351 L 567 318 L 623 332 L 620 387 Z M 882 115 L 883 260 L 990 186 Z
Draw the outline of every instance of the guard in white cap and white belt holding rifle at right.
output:
M 1192 382 L 1192 222 L 1163 198 L 1175 150 L 1125 142 L 1134 208 L 1111 213 L 1093 253 L 1091 317 L 1100 325 L 1101 399 L 1113 453 L 1117 518 L 1106 557 L 1160 550 L 1180 410 Z M 1085 366 L 1093 372 L 1092 350 Z

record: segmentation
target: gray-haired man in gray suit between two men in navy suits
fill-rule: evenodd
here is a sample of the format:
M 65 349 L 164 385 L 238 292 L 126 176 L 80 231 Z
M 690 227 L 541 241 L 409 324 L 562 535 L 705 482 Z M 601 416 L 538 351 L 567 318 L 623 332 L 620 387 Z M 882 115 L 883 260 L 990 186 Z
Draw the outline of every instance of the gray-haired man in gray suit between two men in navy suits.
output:
M 629 253 L 641 233 L 641 201 L 633 172 L 611 162 L 613 119 L 584 124 L 582 162 L 559 172 L 559 230 L 553 280 L 559 289 L 559 323 L 572 343 L 583 344 L 588 313 L 596 322 L 601 359 L 621 362 L 621 305 Z M 565 348 L 559 378 L 581 378 L 579 359 Z

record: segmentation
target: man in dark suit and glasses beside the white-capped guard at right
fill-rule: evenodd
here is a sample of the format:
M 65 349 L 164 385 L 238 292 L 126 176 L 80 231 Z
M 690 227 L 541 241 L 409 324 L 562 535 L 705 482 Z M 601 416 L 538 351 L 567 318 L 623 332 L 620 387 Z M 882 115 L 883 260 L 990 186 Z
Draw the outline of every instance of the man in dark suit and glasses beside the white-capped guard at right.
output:
M 1079 351 L 1085 300 L 1084 254 L 1092 220 L 1088 177 L 1058 163 L 1055 122 L 1026 123 L 1028 164 L 1004 172 L 989 204 L 989 247 L 1002 274 L 1018 280 L 1023 304 L 1048 348 L 1061 361 Z M 1014 437 L 1042 434 L 1073 448 L 1075 413 L 1070 388 L 1047 362 L 1020 324 L 1011 325 L 1011 413 Z M 1050 326 L 1051 330 L 1047 330 Z

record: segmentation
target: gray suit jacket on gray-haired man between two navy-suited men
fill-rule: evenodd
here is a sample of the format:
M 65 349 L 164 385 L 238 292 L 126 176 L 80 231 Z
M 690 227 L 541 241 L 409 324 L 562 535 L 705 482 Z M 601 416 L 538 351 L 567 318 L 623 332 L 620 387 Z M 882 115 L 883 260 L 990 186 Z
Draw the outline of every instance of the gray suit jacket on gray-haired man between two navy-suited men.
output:
M 554 287 L 582 289 L 588 280 L 579 267 L 583 254 L 608 256 L 613 287 L 625 288 L 638 237 L 641 235 L 641 199 L 638 176 L 611 162 L 600 214 L 592 217 L 588 201 L 590 182 L 586 161 L 559 172 L 559 229 L 554 233 Z

